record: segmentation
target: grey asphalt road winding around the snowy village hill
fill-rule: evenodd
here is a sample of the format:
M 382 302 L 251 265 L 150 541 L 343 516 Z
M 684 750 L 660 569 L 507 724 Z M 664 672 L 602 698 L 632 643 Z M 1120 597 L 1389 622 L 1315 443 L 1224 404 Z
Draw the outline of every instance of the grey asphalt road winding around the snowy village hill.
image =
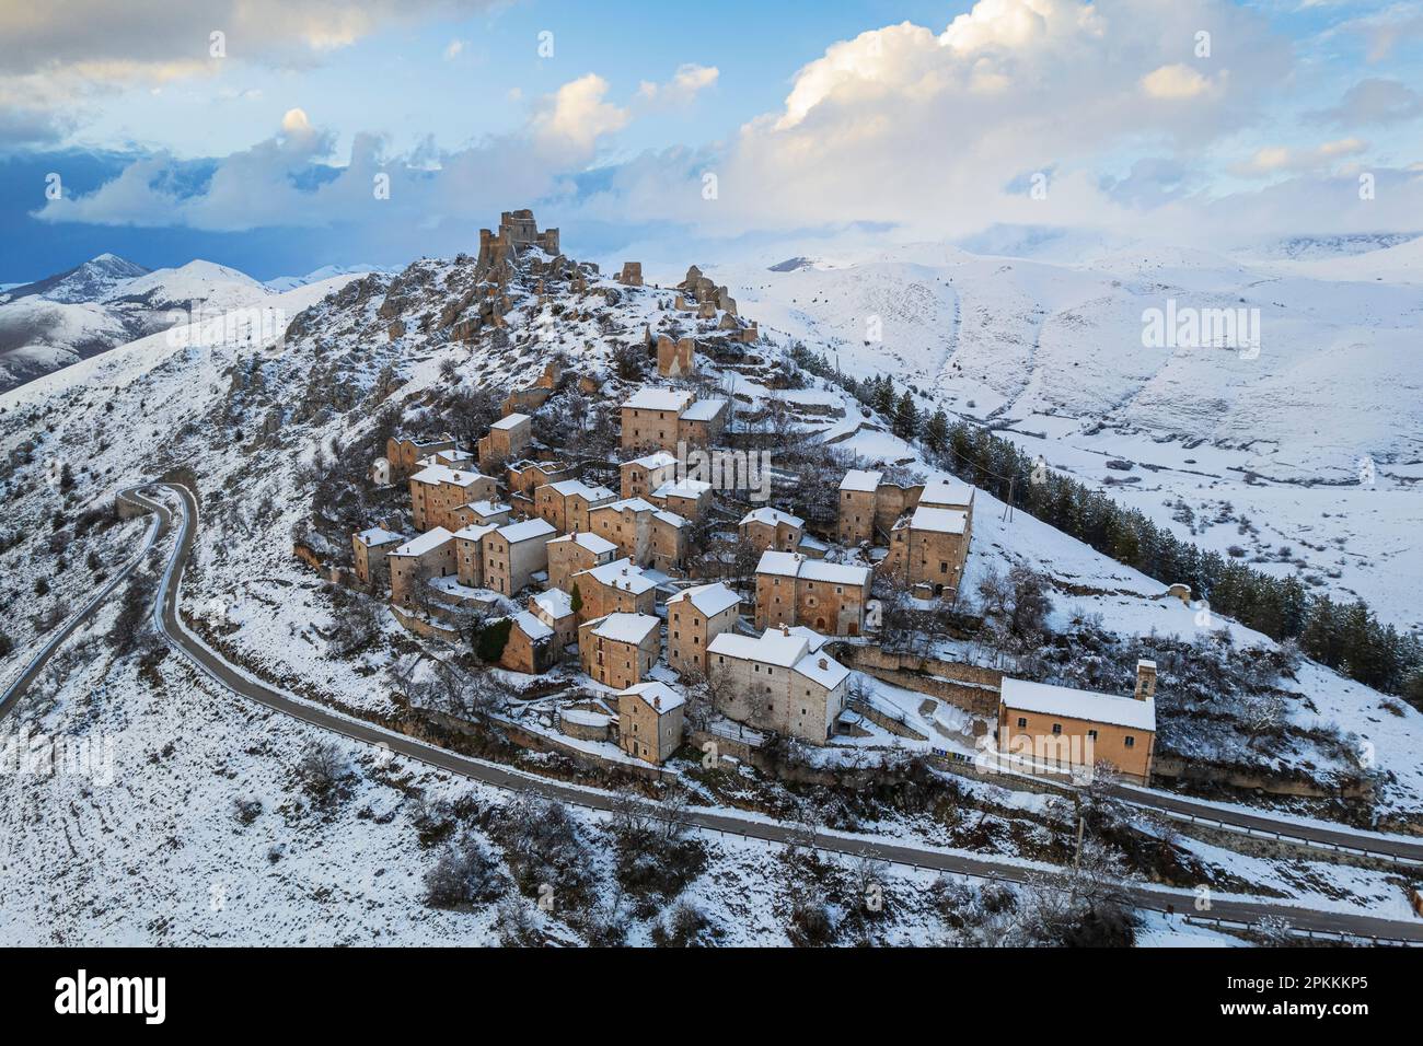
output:
M 498 788 L 535 793 L 562 803 L 571 803 L 592 810 L 609 811 L 619 801 L 619 796 L 595 788 L 562 784 L 548 778 L 525 774 L 497 763 L 487 763 L 478 759 L 460 756 L 454 751 L 438 749 L 413 737 L 386 730 L 370 723 L 364 723 L 339 712 L 323 709 L 292 694 L 272 689 L 259 679 L 235 667 L 209 649 L 201 639 L 188 632 L 178 615 L 178 593 L 182 583 L 182 572 L 192 552 L 195 539 L 195 521 L 198 519 L 198 504 L 192 492 L 175 482 L 147 484 L 132 487 L 120 492 L 120 497 L 144 507 L 155 517 L 157 524 L 149 528 L 144 554 L 129 564 L 122 574 L 114 578 L 95 599 L 81 611 L 81 613 L 67 623 L 55 635 L 46 649 L 27 666 L 21 679 L 17 680 L 4 694 L 0 704 L 0 716 L 14 703 L 24 687 L 43 670 L 44 663 L 54 649 L 78 625 L 83 623 L 102 599 L 112 592 L 115 585 L 127 576 L 137 564 L 147 555 L 148 548 L 161 535 L 172 531 L 174 512 L 152 497 L 145 495 L 145 488 L 162 487 L 176 494 L 182 504 L 178 537 L 174 542 L 172 554 L 164 569 L 157 599 L 154 602 L 154 623 L 169 645 L 188 660 L 191 660 L 203 675 L 235 694 L 263 704 L 282 714 L 297 719 L 323 730 L 342 734 L 351 740 L 379 746 L 388 751 L 406 756 L 427 766 L 447 773 L 458 774 L 470 780 L 481 781 Z M 1258 827 L 1258 834 L 1276 835 L 1284 833 L 1289 838 L 1305 838 L 1318 835 L 1322 845 L 1335 845 L 1335 840 L 1346 844 L 1349 850 L 1377 854 L 1383 857 L 1406 857 L 1409 860 L 1423 858 L 1423 845 L 1395 841 L 1385 837 L 1355 834 L 1346 828 L 1315 828 L 1309 824 L 1295 821 L 1274 821 L 1257 813 L 1237 811 L 1229 807 L 1195 804 L 1190 800 L 1173 796 L 1160 796 L 1146 790 L 1130 790 L 1124 793 L 1130 801 L 1157 810 L 1175 811 L 1180 815 L 1200 815 L 1212 823 L 1227 823 L 1234 818 L 1241 830 L 1251 825 Z M 707 831 L 733 834 L 743 838 L 764 840 L 774 844 L 793 844 L 807 841 L 805 830 L 797 825 L 744 815 L 727 810 L 694 808 L 684 814 L 684 820 Z M 983 879 L 999 879 L 1007 882 L 1037 882 L 1049 887 L 1064 882 L 1064 874 L 1043 865 L 1032 865 L 1007 858 L 980 857 L 961 851 L 933 850 L 925 847 L 904 845 L 889 842 L 879 837 L 855 835 L 851 833 L 815 831 L 810 840 L 814 847 L 822 851 L 842 854 L 851 858 L 871 857 L 899 865 L 928 868 L 935 871 L 970 875 Z M 1375 850 L 1386 845 L 1387 850 Z M 1393 851 L 1399 852 L 1393 852 Z M 1359 915 L 1349 911 L 1325 911 L 1302 908 L 1291 904 L 1275 904 L 1241 895 L 1214 894 L 1210 907 L 1197 909 L 1197 894 L 1178 888 L 1151 887 L 1146 884 L 1120 884 L 1121 892 L 1130 904 L 1140 908 L 1177 912 L 1183 918 L 1204 922 L 1224 922 L 1229 925 L 1254 925 L 1265 916 L 1275 916 L 1289 922 L 1296 932 L 1353 936 L 1376 941 L 1423 944 L 1423 922 L 1386 919 L 1369 915 Z

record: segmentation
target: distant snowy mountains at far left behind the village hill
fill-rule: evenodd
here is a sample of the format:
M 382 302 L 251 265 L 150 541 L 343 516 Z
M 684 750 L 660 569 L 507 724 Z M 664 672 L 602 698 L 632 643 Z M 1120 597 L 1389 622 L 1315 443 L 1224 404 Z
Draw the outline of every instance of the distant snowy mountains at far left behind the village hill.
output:
M 276 293 L 212 262 L 149 272 L 115 255 L 0 293 L 0 390 L 203 315 Z

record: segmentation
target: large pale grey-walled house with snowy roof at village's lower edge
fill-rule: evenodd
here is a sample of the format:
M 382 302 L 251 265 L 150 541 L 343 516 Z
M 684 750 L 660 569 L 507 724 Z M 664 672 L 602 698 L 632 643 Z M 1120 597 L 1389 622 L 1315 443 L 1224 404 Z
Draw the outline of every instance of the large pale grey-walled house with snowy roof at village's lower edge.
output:
M 723 632 L 707 653 L 713 697 L 726 717 L 811 744 L 835 734 L 850 669 L 788 628 L 757 638 Z

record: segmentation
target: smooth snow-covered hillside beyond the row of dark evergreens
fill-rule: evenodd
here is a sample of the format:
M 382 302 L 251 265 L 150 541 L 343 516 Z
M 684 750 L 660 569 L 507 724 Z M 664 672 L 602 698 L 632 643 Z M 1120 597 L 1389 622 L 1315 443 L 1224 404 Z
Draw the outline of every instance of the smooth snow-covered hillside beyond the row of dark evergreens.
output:
M 1063 260 L 1064 242 L 1087 260 Z M 1100 238 L 1036 248 L 1052 260 L 919 243 L 709 275 L 763 329 L 827 346 L 847 374 L 889 373 L 1183 535 L 1183 501 L 1198 518 L 1268 525 L 1268 538 L 1217 528 L 1202 544 L 1284 558 L 1311 585 L 1423 625 L 1423 565 L 1403 555 L 1423 524 L 1423 239 L 1311 260 Z M 1170 303 L 1258 310 L 1258 353 L 1146 347 L 1143 315 Z

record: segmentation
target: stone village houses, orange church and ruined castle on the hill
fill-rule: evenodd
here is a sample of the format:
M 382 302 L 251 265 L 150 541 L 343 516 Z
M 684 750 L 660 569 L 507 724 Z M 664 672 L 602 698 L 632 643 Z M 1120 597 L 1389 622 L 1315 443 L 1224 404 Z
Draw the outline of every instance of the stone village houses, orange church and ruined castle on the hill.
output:
M 464 337 L 501 327 L 517 268 L 538 275 L 539 295 L 546 293 L 545 275 L 565 279 L 575 293 L 589 287 L 588 266 L 559 255 L 558 231 L 538 231 L 528 211 L 507 212 L 497 233 L 481 232 L 478 265 L 487 279 L 482 295 L 465 303 L 472 319 L 462 322 Z M 615 279 L 643 286 L 636 262 Z M 758 336 L 737 316 L 726 287 L 696 266 L 676 287 L 675 309 L 739 342 Z M 730 494 L 687 478 L 676 455 L 719 447 L 731 404 L 679 384 L 699 369 L 697 339 L 653 339 L 649 329 L 643 347 L 665 383 L 645 384 L 620 403 L 623 460 L 605 463 L 616 464 L 619 490 L 592 478 L 586 464 L 568 464 L 575 448 L 535 443 L 529 411 L 564 379 L 551 360 L 531 386 L 507 397 L 502 417 L 472 448 L 451 437 L 388 440 L 371 477 L 381 485 L 408 484 L 416 534 L 373 524 L 351 535 L 356 581 L 388 592 L 391 612 L 411 632 L 454 642 L 461 619 L 514 601 L 522 609 L 482 625 L 507 635 L 497 663 L 539 676 L 576 657 L 585 689 L 603 697 L 602 710 L 568 709 L 558 729 L 613 743 L 636 760 L 662 764 L 697 740 L 686 709 L 699 685 L 719 719 L 753 736 L 831 744 L 847 713 L 857 714 L 850 709 L 852 670 L 837 653 L 865 660 L 878 649 L 877 575 L 922 599 L 956 593 L 972 541 L 975 488 L 958 481 L 904 485 L 881 471 L 850 470 L 840 482 L 834 531 L 813 534 L 776 505 L 743 505 L 739 537 L 760 555 L 754 586 L 737 592 L 700 576 L 689 565 L 689 534 Z M 599 393 L 595 377 L 578 381 Z M 1025 739 L 1053 737 L 1063 751 L 1089 753 L 1083 759 L 1147 781 L 1154 690 L 1150 662 L 1138 666 L 1136 693 L 1120 697 L 1005 677 L 998 750 L 1013 753 Z

